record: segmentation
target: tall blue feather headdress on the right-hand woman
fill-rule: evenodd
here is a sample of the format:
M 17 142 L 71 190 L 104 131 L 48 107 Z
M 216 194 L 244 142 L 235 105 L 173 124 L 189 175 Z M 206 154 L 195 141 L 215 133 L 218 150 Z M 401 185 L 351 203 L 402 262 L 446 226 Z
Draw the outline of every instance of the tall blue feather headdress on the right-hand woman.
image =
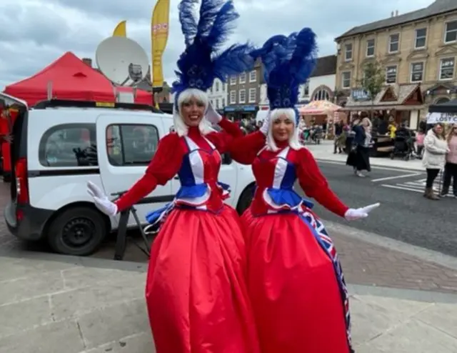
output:
M 251 55 L 262 59 L 270 109 L 294 109 L 298 119 L 299 86 L 316 66 L 316 34 L 305 28 L 290 36 L 273 36 Z

